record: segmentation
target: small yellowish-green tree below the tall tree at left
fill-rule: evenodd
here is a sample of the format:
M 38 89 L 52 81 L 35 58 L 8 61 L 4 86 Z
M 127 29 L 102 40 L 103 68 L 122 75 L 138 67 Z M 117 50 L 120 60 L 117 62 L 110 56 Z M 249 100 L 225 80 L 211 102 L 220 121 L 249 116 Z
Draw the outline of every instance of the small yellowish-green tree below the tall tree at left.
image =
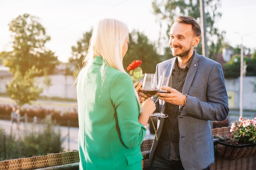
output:
M 39 88 L 38 84 L 35 84 L 34 81 L 35 75 L 40 74 L 38 68 L 33 66 L 26 71 L 24 76 L 18 71 L 18 68 L 12 81 L 7 84 L 6 91 L 11 99 L 15 100 L 16 104 L 21 108 L 24 104 L 31 104 L 31 101 L 38 99 L 43 89 Z

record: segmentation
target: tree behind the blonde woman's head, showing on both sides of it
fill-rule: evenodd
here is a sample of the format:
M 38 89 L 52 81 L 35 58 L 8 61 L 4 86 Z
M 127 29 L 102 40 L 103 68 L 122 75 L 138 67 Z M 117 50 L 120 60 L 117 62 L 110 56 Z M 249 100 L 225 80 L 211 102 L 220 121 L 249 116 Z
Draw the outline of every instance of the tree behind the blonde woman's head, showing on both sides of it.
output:
M 77 46 L 72 46 L 72 57 L 69 61 L 72 64 L 70 67 L 76 68 L 75 74 L 83 67 L 83 58 L 88 51 L 91 36 L 92 30 L 83 34 L 83 38 L 77 41 Z M 155 73 L 156 64 L 162 61 L 161 56 L 157 54 L 155 44 L 149 42 L 146 35 L 135 30 L 129 34 L 129 39 L 128 51 L 123 60 L 125 70 L 133 60 L 141 60 L 144 73 Z

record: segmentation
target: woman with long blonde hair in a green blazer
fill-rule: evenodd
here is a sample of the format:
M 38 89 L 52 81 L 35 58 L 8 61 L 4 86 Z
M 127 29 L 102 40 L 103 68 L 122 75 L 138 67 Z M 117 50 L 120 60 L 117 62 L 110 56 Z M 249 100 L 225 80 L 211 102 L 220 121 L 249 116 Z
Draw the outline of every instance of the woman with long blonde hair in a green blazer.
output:
M 141 169 L 140 145 L 155 104 L 148 99 L 140 111 L 122 64 L 128 35 L 128 26 L 115 19 L 99 21 L 92 32 L 86 66 L 77 79 L 81 170 Z

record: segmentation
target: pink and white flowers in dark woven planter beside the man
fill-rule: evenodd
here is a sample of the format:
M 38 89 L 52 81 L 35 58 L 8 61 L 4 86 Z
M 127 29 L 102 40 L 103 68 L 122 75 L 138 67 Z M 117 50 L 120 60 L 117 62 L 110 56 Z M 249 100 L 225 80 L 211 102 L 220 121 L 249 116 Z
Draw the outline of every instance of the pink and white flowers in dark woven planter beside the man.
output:
M 214 135 L 216 150 L 224 159 L 239 159 L 256 156 L 256 118 L 250 120 L 240 117 L 230 127 L 226 136 Z

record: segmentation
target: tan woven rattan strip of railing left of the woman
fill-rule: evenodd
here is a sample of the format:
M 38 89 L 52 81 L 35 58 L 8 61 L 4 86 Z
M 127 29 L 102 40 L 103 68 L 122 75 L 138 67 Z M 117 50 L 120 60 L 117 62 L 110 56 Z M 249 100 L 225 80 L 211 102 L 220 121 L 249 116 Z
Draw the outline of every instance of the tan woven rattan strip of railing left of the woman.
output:
M 79 162 L 78 151 L 0 161 L 0 170 L 35 170 Z

